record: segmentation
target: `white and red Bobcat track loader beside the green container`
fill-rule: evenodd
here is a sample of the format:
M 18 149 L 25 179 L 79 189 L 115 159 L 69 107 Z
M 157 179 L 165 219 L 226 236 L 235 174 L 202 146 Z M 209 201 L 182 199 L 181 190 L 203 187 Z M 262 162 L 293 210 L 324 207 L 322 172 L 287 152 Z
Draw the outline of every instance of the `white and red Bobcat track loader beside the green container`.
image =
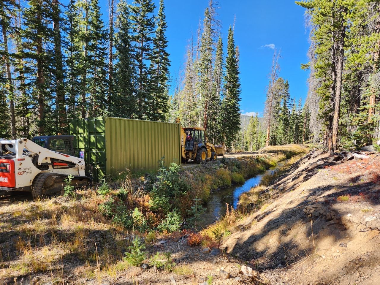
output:
M 61 136 L 59 136 L 61 137 Z M 40 138 L 40 139 L 39 139 Z M 32 192 L 33 198 L 49 193 L 59 193 L 64 179 L 73 176 L 71 184 L 86 186 L 91 182 L 85 173 L 83 158 L 74 157 L 68 148 L 56 146 L 55 150 L 41 146 L 41 142 L 50 142 L 52 136 L 16 140 L 0 139 L 0 190 L 6 192 Z M 57 143 L 59 140 L 56 140 Z M 69 139 L 66 141 L 70 141 Z

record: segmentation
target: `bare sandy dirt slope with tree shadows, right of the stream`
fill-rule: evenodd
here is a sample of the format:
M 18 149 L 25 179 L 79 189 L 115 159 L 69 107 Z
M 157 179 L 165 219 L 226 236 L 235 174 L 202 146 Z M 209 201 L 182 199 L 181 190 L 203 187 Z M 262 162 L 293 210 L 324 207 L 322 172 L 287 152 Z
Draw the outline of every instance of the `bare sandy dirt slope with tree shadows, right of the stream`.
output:
M 270 284 L 380 284 L 379 170 L 377 154 L 335 163 L 312 151 L 222 248 Z

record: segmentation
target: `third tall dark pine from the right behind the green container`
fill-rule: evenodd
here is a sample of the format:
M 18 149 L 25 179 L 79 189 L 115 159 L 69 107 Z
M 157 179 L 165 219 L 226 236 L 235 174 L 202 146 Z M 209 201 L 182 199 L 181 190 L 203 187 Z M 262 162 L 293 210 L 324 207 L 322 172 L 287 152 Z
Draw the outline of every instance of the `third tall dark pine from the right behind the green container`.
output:
M 114 86 L 110 98 L 109 113 L 114 117 L 133 118 L 138 112 L 135 87 L 133 85 L 134 65 L 131 59 L 130 14 L 127 2 L 117 4 Z

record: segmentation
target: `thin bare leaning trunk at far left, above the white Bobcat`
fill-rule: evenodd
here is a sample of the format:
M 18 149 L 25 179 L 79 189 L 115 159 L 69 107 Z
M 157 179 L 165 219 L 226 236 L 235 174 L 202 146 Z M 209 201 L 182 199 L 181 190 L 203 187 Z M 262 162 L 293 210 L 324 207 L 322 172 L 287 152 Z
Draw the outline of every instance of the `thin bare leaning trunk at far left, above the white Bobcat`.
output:
M 4 11 L 4 10 L 3 10 Z M 3 40 L 4 40 L 4 49 L 5 49 L 5 65 L 6 65 L 6 77 L 9 82 L 8 87 L 8 100 L 9 100 L 9 111 L 11 112 L 11 131 L 12 131 L 12 138 L 16 138 L 16 117 L 14 114 L 14 85 L 12 81 L 12 74 L 11 74 L 11 64 L 9 62 L 9 54 L 8 54 L 8 36 L 6 34 L 6 23 L 5 19 L 1 19 L 1 25 L 3 30 Z

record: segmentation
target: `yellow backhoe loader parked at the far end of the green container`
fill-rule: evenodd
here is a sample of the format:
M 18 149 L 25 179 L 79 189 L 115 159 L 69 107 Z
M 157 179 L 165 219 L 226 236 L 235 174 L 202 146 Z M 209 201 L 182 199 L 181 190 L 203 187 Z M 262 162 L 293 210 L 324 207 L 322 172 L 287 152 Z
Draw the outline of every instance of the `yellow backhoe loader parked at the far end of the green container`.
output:
M 176 123 L 180 123 L 179 118 L 176 119 Z M 183 128 L 181 125 L 180 131 L 183 163 L 189 159 L 199 164 L 206 163 L 207 158 L 216 160 L 218 155 L 224 155 L 223 147 L 208 142 L 204 128 Z

